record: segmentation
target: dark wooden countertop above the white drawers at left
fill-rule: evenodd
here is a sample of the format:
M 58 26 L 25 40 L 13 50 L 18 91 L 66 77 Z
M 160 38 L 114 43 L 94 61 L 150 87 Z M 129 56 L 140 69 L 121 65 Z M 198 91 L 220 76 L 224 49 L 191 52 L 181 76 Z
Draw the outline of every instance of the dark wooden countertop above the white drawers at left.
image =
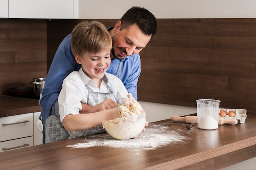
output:
M 41 111 L 39 100 L 0 96 L 0 118 Z

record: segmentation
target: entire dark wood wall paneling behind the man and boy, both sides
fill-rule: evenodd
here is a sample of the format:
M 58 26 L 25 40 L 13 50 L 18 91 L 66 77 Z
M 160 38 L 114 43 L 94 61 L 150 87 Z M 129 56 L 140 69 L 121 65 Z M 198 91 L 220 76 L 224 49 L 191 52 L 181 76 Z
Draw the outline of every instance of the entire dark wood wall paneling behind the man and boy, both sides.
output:
M 58 45 L 81 21 L 0 19 L 0 94 L 46 76 Z M 117 19 L 98 21 L 109 27 Z M 214 98 L 255 114 L 255 18 L 157 22 L 157 36 L 140 53 L 138 100 L 195 107 L 196 99 Z

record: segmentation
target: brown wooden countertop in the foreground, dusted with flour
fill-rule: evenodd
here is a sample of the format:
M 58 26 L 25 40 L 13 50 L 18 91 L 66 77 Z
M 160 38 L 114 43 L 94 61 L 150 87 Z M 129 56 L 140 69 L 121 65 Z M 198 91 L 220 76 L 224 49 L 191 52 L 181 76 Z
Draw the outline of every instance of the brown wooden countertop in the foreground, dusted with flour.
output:
M 101 133 L 2 152 L 1 168 L 220 169 L 256 157 L 255 122 L 247 115 L 244 124 L 187 130 L 168 119 L 150 123 L 137 139 Z

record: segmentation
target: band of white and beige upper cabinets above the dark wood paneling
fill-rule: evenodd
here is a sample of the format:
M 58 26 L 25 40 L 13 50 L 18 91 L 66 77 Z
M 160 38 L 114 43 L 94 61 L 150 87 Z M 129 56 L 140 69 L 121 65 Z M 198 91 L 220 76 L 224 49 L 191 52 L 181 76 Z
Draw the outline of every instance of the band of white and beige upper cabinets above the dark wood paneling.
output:
M 141 6 L 156 18 L 255 18 L 255 0 L 0 0 L 0 17 L 41 19 L 119 19 Z M 228 7 L 228 8 L 227 8 Z M 182 11 L 182 12 L 180 12 Z M 5 15 L 2 15 L 4 13 Z M 2 15 L 2 16 L 1 16 Z

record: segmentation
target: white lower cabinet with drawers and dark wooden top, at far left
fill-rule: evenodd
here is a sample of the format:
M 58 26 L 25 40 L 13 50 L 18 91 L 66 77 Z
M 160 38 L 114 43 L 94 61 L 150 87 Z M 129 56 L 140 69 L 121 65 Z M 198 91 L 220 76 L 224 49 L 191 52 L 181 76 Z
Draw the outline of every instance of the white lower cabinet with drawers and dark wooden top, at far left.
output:
M 43 143 L 40 111 L 38 100 L 0 96 L 0 152 Z

